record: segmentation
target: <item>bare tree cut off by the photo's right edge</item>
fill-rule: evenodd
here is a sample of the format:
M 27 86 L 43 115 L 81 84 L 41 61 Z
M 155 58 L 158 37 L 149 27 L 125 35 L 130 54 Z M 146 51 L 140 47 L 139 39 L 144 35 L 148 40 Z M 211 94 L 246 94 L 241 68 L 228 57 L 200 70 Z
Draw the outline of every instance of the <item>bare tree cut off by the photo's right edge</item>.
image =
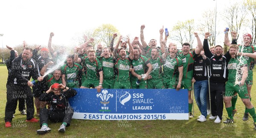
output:
M 244 2 L 244 6 L 247 8 L 247 11 L 251 16 L 249 17 L 249 20 L 251 22 L 251 25 L 249 25 L 249 28 L 252 33 L 253 45 L 255 45 L 256 44 L 256 0 L 246 0 Z

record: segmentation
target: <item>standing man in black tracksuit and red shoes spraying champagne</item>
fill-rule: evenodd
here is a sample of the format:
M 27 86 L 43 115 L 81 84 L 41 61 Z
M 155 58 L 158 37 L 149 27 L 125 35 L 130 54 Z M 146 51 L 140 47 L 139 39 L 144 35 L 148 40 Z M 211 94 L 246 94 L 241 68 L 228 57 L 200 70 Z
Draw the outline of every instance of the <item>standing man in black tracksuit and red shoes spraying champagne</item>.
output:
M 7 95 L 6 95 L 6 108 L 5 108 L 5 127 L 11 127 L 12 116 L 17 107 L 18 98 L 26 99 L 26 121 L 38 122 L 34 118 L 34 102 L 32 96 L 31 86 L 32 82 L 29 80 L 31 76 L 33 79 L 37 79 L 39 82 L 44 77 L 39 76 L 36 72 L 36 62 L 32 59 L 32 49 L 24 48 L 21 56 L 18 56 L 12 61 L 12 67 L 7 79 Z

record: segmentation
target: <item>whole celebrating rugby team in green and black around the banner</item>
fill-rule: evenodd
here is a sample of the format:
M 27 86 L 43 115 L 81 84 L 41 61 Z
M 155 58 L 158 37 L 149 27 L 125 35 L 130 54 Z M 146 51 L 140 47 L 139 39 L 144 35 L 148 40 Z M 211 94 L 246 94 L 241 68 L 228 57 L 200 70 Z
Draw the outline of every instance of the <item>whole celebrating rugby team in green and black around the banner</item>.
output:
M 11 56 L 6 61 L 9 75 L 5 127 L 12 126 L 17 102 L 26 121 L 38 122 L 34 118 L 35 103 L 41 125 L 38 134 L 50 132 L 48 120 L 62 122 L 58 131 L 65 132 L 73 115 L 68 103 L 77 93 L 73 88 L 95 88 L 97 92 L 101 89 L 184 88 L 188 89 L 189 118 L 193 118 L 192 90 L 201 112 L 197 119 L 200 122 L 207 121 L 209 115 L 209 119 L 220 123 L 225 104 L 228 117 L 223 123 L 233 123 L 239 96 L 245 105 L 243 120 L 247 121 L 250 114 L 256 130 L 256 113 L 250 102 L 256 50 L 250 34 L 244 34 L 243 44 L 237 45 L 237 33 L 231 31 L 230 42 L 225 30 L 224 43 L 229 51 L 223 53 L 221 45 L 209 47 L 209 32 L 205 33 L 203 43 L 198 33 L 194 33 L 197 39 L 194 50 L 188 42 L 178 50 L 173 42 L 166 45 L 169 32 L 163 28 L 159 31 L 160 47 L 156 39 L 145 42 L 144 28 L 145 25 L 141 25 L 140 37 L 132 41 L 127 36 L 113 34 L 108 47 L 99 42 L 94 48 L 94 39 L 84 36 L 84 43 L 76 46 L 73 54 L 67 53 L 64 47 L 52 48 L 53 33 L 50 33 L 48 48 L 36 46 L 33 50 L 23 42 L 23 53 L 19 55 L 6 45 Z

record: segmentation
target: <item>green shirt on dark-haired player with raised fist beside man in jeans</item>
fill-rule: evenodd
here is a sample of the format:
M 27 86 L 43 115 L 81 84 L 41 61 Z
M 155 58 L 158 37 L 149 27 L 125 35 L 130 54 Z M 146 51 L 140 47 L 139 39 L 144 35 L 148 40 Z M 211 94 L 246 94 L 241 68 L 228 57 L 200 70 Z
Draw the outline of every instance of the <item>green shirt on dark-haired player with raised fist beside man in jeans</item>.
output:
M 183 77 L 182 79 L 192 79 L 193 77 L 193 64 L 195 59 L 193 56 L 195 52 L 189 52 L 189 54 L 184 55 L 182 51 L 178 51 L 178 57 L 183 63 Z

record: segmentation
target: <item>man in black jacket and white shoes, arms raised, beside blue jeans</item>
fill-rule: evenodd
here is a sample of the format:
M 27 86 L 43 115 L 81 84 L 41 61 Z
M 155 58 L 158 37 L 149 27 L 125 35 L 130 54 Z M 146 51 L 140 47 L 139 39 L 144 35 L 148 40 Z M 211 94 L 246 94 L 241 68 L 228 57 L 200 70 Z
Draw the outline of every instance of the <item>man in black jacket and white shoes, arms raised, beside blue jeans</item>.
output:
M 210 97 L 211 97 L 211 113 L 212 116 L 209 119 L 215 119 L 215 123 L 220 123 L 223 114 L 223 95 L 225 94 L 225 84 L 227 82 L 228 69 L 227 64 L 231 59 L 229 51 L 222 55 L 221 45 L 215 46 L 215 54 L 212 54 L 209 50 L 208 37 L 211 34 L 205 33 L 204 38 L 204 52 L 205 55 L 210 59 Z M 236 38 L 236 36 L 233 36 Z M 232 41 L 232 44 L 236 44 L 236 40 Z M 229 45 L 228 45 L 229 46 Z

